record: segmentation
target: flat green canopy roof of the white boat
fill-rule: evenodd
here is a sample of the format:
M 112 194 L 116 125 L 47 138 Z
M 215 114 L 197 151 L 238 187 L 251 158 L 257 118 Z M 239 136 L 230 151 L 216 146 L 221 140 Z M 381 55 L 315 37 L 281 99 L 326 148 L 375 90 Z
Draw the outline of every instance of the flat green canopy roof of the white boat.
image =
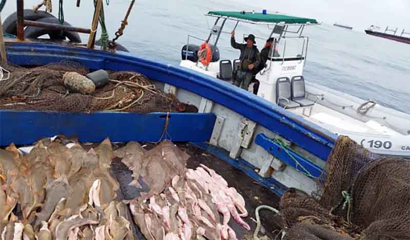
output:
M 243 19 L 248 21 L 253 21 L 254 23 L 284 23 L 284 24 L 318 24 L 316 19 L 303 18 L 303 17 L 293 17 L 281 14 L 263 14 L 263 13 L 252 13 L 252 12 L 221 12 L 221 11 L 211 11 L 208 13 L 211 16 L 221 16 L 236 19 Z

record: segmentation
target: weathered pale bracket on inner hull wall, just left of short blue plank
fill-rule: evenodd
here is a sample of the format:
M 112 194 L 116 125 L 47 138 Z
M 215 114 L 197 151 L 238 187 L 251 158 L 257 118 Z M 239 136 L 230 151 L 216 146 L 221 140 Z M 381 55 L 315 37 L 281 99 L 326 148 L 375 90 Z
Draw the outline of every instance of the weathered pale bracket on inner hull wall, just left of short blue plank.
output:
M 255 132 L 256 123 L 249 119 L 242 118 L 238 128 L 238 134 L 234 139 L 229 154 L 229 156 L 234 159 L 240 156 L 242 152 L 242 147 L 249 148 L 249 145 L 252 142 L 253 134 Z

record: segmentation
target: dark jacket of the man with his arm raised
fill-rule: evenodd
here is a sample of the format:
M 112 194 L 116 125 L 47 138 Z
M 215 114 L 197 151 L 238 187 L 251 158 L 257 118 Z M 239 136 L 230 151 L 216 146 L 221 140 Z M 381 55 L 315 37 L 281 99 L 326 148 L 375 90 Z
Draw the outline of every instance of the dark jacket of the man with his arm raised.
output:
M 250 64 L 254 64 L 255 68 L 257 68 L 260 64 L 260 57 L 259 57 L 259 50 L 258 48 L 254 45 L 252 48 L 248 48 L 246 44 L 240 44 L 235 41 L 235 38 L 231 37 L 231 46 L 234 49 L 239 49 L 240 50 L 240 64 L 239 64 L 239 70 L 242 71 L 248 71 L 248 66 Z

